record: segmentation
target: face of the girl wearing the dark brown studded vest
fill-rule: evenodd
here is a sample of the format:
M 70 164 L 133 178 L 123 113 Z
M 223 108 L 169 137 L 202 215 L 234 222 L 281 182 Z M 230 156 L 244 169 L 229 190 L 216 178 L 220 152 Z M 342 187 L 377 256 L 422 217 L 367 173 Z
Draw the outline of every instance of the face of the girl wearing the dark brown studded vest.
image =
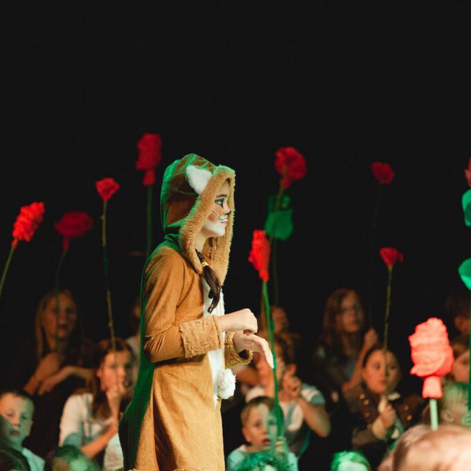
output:
M 375 394 L 391 393 L 400 380 L 400 368 L 396 356 L 391 352 L 386 353 L 388 363 L 388 377 L 386 380 L 386 361 L 382 350 L 375 350 L 368 357 L 366 365 L 362 369 L 362 378 L 366 387 Z

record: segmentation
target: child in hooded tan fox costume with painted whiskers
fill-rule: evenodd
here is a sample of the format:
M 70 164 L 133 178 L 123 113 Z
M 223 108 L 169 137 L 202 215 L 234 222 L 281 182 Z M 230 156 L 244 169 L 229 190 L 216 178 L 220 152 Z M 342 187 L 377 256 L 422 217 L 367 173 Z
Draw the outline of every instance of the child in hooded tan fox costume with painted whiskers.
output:
M 224 315 L 234 215 L 231 168 L 188 154 L 161 189 L 165 238 L 141 281 L 141 362 L 119 425 L 125 470 L 223 471 L 221 399 L 251 351 L 272 360 L 249 309 Z

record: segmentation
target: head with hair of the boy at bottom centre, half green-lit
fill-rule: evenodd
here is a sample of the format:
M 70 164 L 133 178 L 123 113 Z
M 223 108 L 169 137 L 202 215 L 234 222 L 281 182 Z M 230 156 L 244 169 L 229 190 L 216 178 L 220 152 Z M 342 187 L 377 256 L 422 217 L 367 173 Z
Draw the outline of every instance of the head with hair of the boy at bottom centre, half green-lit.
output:
M 272 450 L 276 441 L 275 402 L 267 396 L 258 396 L 247 402 L 240 413 L 242 435 L 249 444 L 249 452 Z

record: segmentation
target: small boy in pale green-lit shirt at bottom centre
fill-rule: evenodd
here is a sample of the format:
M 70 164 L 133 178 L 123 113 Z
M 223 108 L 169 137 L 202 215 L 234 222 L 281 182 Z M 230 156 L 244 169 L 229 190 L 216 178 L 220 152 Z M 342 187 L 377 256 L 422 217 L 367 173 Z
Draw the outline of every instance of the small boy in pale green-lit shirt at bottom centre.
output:
M 290 471 L 298 470 L 298 463 L 294 453 L 287 448 L 286 438 L 277 437 L 275 404 L 272 398 L 258 396 L 249 400 L 240 414 L 242 423 L 242 434 L 247 445 L 233 450 L 227 456 L 227 471 L 249 469 L 249 463 L 254 465 L 256 458 L 246 460 L 249 454 L 266 453 L 269 457 L 283 463 L 285 469 Z M 263 461 L 263 458 L 259 460 Z M 273 460 L 267 460 L 273 461 Z M 269 464 L 269 463 L 266 463 Z M 252 468 L 253 469 L 253 468 Z

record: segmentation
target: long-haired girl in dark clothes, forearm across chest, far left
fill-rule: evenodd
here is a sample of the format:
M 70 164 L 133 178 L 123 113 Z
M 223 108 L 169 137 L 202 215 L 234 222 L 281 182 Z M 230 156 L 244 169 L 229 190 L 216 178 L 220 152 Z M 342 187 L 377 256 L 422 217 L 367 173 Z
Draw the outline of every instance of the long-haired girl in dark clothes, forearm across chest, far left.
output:
M 33 427 L 25 445 L 43 458 L 57 446 L 66 399 L 91 379 L 93 344 L 82 339 L 73 294 L 52 290 L 39 300 L 33 337 L 24 340 L 9 365 L 8 387 L 24 389 L 35 402 Z

